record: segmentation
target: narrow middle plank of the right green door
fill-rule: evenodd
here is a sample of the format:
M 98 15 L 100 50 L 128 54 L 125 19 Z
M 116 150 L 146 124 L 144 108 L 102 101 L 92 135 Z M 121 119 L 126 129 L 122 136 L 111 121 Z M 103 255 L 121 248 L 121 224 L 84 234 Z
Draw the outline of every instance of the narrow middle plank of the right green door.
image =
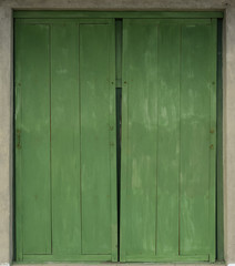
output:
M 156 255 L 178 254 L 180 24 L 161 21 L 157 72 Z

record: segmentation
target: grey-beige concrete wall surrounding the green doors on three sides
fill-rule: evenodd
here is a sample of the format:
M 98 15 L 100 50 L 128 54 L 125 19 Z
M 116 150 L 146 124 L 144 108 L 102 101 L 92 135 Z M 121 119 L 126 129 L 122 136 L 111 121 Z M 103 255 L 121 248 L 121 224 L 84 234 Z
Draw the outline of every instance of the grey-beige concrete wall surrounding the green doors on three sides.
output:
M 226 264 L 235 264 L 235 0 L 0 0 L 0 265 L 12 263 L 13 250 L 13 9 L 225 11 L 223 40 L 224 243 Z

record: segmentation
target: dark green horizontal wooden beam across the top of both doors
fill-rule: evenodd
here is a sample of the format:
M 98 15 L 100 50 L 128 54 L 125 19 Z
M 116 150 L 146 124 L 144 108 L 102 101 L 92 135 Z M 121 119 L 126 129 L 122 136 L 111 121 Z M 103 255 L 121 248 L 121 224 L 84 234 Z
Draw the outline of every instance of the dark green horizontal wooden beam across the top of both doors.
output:
M 37 19 L 45 19 L 45 18 L 223 18 L 223 11 L 24 11 L 18 10 L 13 12 L 14 18 L 37 18 Z

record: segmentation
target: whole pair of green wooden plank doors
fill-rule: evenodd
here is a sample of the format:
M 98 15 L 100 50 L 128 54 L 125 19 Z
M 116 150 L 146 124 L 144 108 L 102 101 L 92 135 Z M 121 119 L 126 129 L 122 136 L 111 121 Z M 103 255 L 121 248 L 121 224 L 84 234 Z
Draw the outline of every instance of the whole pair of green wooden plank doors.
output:
M 17 260 L 213 262 L 216 20 L 18 19 L 14 53 Z

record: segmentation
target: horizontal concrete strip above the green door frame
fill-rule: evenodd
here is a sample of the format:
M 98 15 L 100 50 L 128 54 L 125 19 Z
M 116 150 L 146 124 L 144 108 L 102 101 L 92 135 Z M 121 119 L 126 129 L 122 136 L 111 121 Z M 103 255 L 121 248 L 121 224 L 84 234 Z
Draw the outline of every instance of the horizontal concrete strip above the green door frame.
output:
M 0 0 L 16 9 L 86 9 L 86 10 L 221 10 L 234 0 Z

